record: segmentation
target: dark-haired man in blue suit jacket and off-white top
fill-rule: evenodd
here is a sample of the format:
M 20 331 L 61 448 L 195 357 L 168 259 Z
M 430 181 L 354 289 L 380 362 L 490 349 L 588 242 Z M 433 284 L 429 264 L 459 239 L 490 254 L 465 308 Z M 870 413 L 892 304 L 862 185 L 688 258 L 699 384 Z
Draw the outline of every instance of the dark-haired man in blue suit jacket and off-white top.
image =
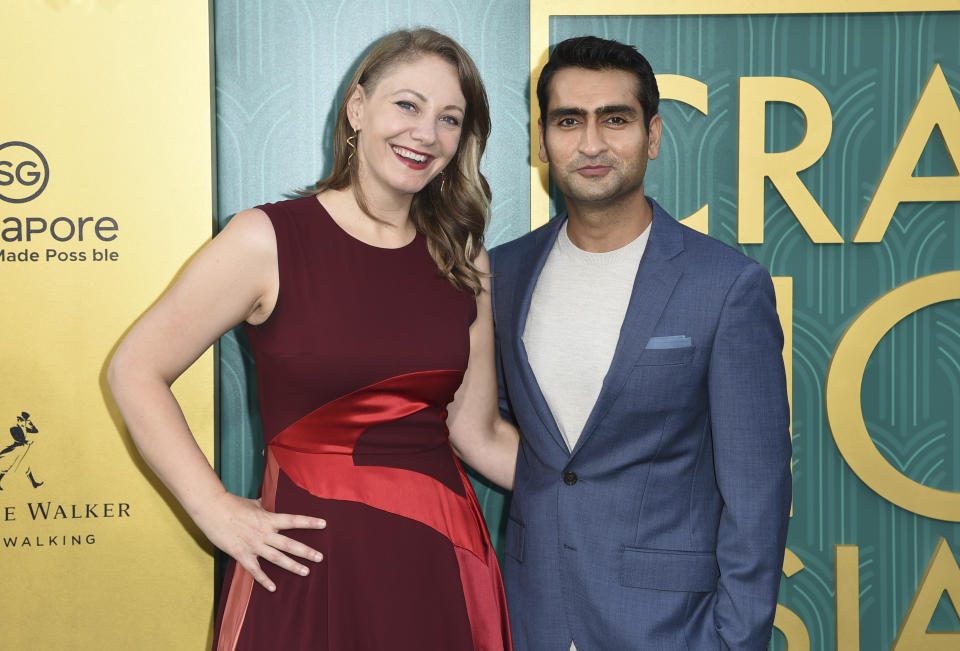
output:
M 791 495 L 770 276 L 644 196 L 662 124 L 634 48 L 560 43 L 537 98 L 567 213 L 491 256 L 514 648 L 766 649 Z

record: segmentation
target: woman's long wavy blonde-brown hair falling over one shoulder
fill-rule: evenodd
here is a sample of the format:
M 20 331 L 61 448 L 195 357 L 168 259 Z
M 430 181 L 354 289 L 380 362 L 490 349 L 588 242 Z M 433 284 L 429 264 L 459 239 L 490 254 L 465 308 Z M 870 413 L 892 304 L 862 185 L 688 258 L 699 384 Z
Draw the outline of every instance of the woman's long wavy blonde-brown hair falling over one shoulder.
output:
M 317 183 L 311 194 L 352 188 L 361 210 L 376 219 L 360 189 L 358 157 L 351 156 L 354 150 L 347 143 L 347 138 L 354 135 L 347 119 L 347 104 L 358 85 L 369 93 L 392 66 L 430 55 L 456 69 L 467 110 L 457 153 L 442 176 L 438 174 L 414 195 L 410 219 L 426 237 L 427 250 L 439 273 L 457 289 L 469 288 L 478 294 L 483 274 L 473 260 L 483 246 L 483 231 L 490 213 L 490 186 L 480 173 L 480 157 L 490 135 L 490 107 L 477 67 L 453 39 L 431 29 L 400 30 L 387 34 L 373 46 L 353 73 L 337 113 L 333 171 Z

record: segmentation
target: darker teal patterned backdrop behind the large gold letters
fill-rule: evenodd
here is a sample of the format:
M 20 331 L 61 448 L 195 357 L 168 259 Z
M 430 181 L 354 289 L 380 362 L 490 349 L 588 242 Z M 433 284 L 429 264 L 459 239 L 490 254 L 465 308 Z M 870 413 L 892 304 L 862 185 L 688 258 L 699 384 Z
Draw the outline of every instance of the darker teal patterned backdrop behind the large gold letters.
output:
M 826 419 L 825 381 L 841 335 L 871 302 L 914 278 L 960 269 L 956 201 L 900 204 L 881 242 L 851 241 L 935 65 L 954 102 L 960 97 L 960 15 L 550 19 L 551 43 L 582 34 L 631 43 L 658 74 L 707 85 L 707 115 L 678 101 L 661 105 L 664 142 L 647 168 L 646 190 L 678 218 L 708 204 L 710 235 L 737 246 L 774 276 L 793 278 L 794 513 L 788 548 L 803 569 L 783 579 L 780 603 L 800 618 L 811 649 L 835 648 L 834 546 L 857 545 L 859 648 L 891 648 L 938 540 L 960 550 L 960 525 L 900 508 L 851 471 Z M 799 177 L 842 244 L 811 241 L 769 181 L 763 243 L 738 244 L 742 77 L 799 79 L 829 104 L 829 146 Z M 805 130 L 795 106 L 767 106 L 766 151 L 796 147 Z M 960 142 L 950 145 L 960 156 Z M 914 173 L 958 174 L 939 130 Z M 882 338 L 864 374 L 861 403 L 848 408 L 862 409 L 874 444 L 894 468 L 927 486 L 960 491 L 960 301 L 920 309 Z M 960 632 L 946 594 L 929 628 Z M 771 648 L 785 648 L 782 633 L 774 634 Z

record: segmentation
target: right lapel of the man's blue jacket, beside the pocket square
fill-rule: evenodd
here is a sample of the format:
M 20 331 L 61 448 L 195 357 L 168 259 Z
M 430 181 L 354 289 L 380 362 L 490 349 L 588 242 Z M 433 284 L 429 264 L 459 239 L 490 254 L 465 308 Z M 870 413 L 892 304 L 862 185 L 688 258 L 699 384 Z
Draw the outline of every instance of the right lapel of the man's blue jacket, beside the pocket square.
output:
M 613 360 L 571 456 L 583 447 L 613 406 L 682 275 L 680 269 L 671 262 L 674 256 L 683 251 L 682 227 L 656 203 L 653 203 L 653 208 L 650 239 L 637 268 Z

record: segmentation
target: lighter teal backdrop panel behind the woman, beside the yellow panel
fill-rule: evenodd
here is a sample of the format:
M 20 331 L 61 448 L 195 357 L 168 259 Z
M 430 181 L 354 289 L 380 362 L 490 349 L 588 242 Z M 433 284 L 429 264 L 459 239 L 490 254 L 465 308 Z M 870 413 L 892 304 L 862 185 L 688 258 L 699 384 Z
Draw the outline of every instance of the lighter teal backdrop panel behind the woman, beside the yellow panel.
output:
M 378 38 L 431 27 L 473 57 L 493 133 L 483 172 L 493 190 L 487 246 L 529 229 L 529 9 L 512 0 L 215 3 L 218 195 L 221 225 L 238 211 L 290 198 L 326 176 L 344 88 Z M 255 496 L 263 473 L 253 360 L 242 328 L 220 340 L 218 470 Z M 322 372 L 322 369 L 320 370 Z M 505 496 L 475 478 L 499 549 Z

